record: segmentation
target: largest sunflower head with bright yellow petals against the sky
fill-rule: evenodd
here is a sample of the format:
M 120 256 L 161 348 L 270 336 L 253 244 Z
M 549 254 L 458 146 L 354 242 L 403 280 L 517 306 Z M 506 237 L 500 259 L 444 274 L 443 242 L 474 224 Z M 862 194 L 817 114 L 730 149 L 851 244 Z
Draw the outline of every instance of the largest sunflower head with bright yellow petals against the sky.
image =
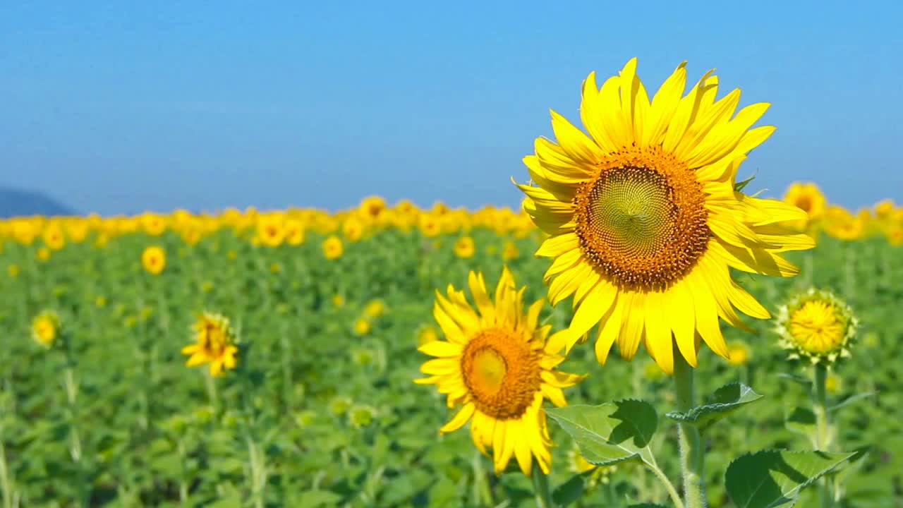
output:
M 574 296 L 565 345 L 600 324 L 600 363 L 615 341 L 628 359 L 644 343 L 673 372 L 672 337 L 691 365 L 700 340 L 727 358 L 718 318 L 744 326 L 733 307 L 768 317 L 729 267 L 796 275 L 780 253 L 815 245 L 781 224 L 805 212 L 735 191 L 740 162 L 775 130 L 750 128 L 768 104 L 734 115 L 740 90 L 716 99 L 712 71 L 684 96 L 684 63 L 651 101 L 636 59 L 601 89 L 591 73 L 581 106 L 590 136 L 553 111 L 557 144 L 537 138 L 535 155 L 524 158 L 538 185 L 518 185 L 524 208 L 550 235 L 536 252 L 554 258 L 549 298 Z

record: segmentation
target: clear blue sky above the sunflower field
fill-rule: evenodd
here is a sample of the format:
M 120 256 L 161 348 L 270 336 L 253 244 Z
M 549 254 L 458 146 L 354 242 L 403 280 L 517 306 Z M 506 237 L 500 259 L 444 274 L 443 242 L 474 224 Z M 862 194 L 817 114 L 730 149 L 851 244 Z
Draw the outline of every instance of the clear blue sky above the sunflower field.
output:
M 899 2 L 5 2 L 0 186 L 79 212 L 516 205 L 589 71 L 717 68 L 777 132 L 741 174 L 903 201 Z M 214 6 L 215 5 L 215 6 Z

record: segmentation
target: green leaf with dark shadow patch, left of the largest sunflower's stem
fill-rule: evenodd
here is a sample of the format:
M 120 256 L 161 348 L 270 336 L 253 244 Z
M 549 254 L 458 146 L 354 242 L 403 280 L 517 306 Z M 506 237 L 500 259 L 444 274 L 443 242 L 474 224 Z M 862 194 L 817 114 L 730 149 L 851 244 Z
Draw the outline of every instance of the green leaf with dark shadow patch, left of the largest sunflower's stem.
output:
M 654 464 L 649 440 L 656 432 L 656 409 L 642 400 L 606 402 L 600 406 L 545 409 L 595 466 L 638 459 Z

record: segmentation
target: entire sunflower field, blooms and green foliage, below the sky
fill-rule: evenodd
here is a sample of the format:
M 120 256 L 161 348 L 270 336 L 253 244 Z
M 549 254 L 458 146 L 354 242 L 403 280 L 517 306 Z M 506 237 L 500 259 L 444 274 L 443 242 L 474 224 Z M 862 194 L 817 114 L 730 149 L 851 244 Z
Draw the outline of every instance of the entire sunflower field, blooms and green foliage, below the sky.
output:
M 903 505 L 903 208 L 744 194 L 682 69 L 517 211 L 0 221 L 3 508 Z

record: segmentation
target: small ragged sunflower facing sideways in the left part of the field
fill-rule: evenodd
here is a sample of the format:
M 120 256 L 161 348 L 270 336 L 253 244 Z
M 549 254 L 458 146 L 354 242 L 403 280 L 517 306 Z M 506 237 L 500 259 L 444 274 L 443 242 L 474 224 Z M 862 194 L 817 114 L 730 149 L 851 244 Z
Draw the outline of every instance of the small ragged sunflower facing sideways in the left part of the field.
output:
M 219 376 L 224 370 L 235 368 L 237 334 L 226 316 L 202 312 L 191 329 L 194 331 L 195 343 L 182 348 L 182 354 L 190 355 L 185 362 L 186 366 L 209 363 L 212 376 Z

